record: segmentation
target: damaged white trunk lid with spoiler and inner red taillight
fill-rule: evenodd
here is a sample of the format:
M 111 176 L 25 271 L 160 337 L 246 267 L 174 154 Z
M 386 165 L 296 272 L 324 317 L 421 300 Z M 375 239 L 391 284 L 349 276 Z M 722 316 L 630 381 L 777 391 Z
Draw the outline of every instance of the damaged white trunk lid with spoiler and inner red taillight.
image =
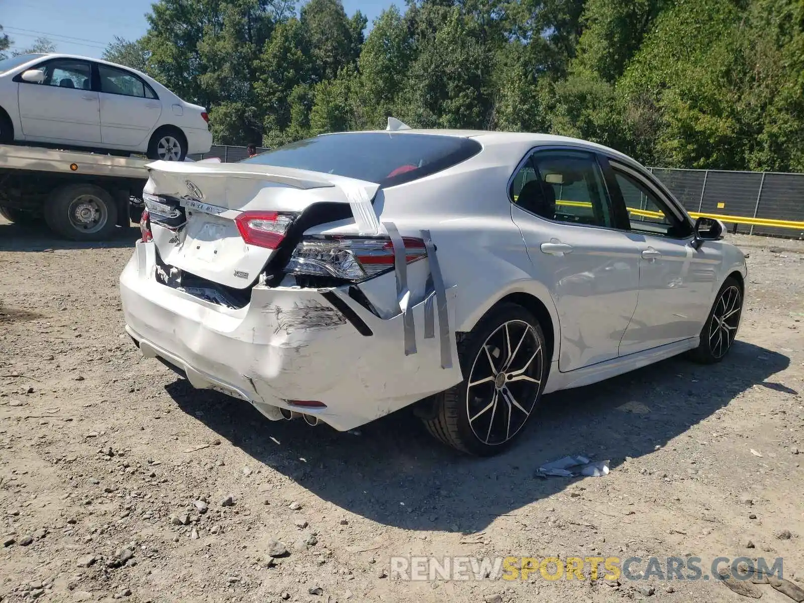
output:
M 371 206 L 377 183 L 255 164 L 154 162 L 147 167 L 144 196 L 162 260 L 220 285 L 248 288 L 275 253 L 274 244 L 247 242 L 255 238 L 244 236 L 244 225 L 273 229 L 281 240 L 282 228 L 314 203 L 349 203 L 361 233 L 380 234 Z

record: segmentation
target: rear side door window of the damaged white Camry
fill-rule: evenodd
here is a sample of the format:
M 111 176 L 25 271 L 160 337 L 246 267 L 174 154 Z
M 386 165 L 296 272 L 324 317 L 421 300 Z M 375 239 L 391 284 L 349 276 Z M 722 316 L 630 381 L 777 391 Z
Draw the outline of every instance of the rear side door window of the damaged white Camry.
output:
M 579 151 L 536 151 L 515 174 L 511 199 L 546 219 L 614 225 L 614 215 L 597 158 Z

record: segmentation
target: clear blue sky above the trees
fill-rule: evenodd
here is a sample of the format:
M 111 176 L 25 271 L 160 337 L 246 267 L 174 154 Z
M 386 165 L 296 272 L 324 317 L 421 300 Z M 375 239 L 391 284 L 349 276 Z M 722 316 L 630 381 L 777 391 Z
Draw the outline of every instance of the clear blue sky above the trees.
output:
M 153 0 L 0 0 L 0 25 L 22 50 L 37 37 L 51 39 L 56 51 L 100 57 L 115 35 L 139 38 Z M 368 23 L 392 0 L 343 0 L 347 14 L 362 10 Z M 404 2 L 397 2 L 404 5 Z

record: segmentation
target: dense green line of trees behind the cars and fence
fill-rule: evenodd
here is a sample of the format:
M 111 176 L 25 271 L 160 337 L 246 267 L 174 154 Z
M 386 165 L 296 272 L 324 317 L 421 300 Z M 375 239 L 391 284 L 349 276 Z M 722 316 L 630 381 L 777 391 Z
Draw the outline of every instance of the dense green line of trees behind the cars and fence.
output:
M 210 108 L 215 142 L 549 131 L 643 162 L 804 171 L 802 0 L 158 0 L 106 56 Z M 2 31 L 0 31 L 2 35 Z M 0 52 L 7 49 L 0 37 Z

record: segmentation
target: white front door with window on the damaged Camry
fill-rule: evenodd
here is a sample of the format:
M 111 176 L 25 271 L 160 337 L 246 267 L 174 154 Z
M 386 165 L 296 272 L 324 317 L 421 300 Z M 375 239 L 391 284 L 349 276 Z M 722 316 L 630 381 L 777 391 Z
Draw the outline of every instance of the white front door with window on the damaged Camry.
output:
M 722 263 L 720 245 L 692 246 L 692 224 L 658 183 L 614 159 L 613 197 L 624 203 L 638 245 L 639 302 L 620 344 L 633 354 L 699 334 Z

